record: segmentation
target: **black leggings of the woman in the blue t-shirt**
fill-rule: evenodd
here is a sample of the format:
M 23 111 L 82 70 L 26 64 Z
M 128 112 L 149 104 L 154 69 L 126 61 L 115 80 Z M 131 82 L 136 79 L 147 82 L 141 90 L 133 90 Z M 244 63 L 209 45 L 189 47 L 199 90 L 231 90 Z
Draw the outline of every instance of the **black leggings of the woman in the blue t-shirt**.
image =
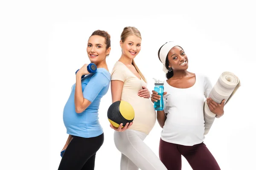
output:
M 94 170 L 96 152 L 103 141 L 104 133 L 93 138 L 73 136 L 58 170 Z

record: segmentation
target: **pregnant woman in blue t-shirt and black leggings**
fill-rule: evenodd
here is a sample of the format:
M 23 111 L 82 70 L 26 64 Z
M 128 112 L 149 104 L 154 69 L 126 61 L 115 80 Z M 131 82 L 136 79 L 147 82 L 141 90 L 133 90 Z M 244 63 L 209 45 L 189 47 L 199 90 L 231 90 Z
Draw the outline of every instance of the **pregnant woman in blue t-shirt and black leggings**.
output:
M 76 83 L 63 111 L 69 137 L 58 170 L 94 170 L 96 152 L 104 141 L 98 109 L 111 81 L 106 63 L 110 46 L 110 35 L 106 31 L 94 31 L 88 40 L 87 54 L 97 70 L 89 73 L 85 64 L 76 73 Z M 82 75 L 85 77 L 81 79 Z

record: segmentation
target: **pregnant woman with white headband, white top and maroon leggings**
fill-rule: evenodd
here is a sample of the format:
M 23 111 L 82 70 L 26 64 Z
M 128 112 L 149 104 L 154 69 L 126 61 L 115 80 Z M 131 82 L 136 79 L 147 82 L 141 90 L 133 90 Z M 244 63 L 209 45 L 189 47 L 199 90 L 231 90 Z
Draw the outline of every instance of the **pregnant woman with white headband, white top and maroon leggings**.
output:
M 159 156 L 168 170 L 181 170 L 181 155 L 193 170 L 220 170 L 220 167 L 204 144 L 204 101 L 212 84 L 200 74 L 187 71 L 188 57 L 175 42 L 167 42 L 158 51 L 167 80 L 164 82 L 164 111 L 157 111 L 161 132 Z M 160 96 L 155 91 L 151 101 Z M 207 98 L 207 105 L 216 117 L 224 113 L 221 104 Z M 166 116 L 167 115 L 167 116 Z

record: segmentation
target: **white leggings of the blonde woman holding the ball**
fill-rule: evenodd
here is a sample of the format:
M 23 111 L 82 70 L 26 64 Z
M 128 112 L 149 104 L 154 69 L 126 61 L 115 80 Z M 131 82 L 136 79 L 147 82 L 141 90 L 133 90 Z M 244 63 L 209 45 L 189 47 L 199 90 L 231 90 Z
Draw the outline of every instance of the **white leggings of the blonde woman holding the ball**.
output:
M 167 170 L 143 142 L 146 136 L 145 133 L 132 129 L 114 132 L 116 148 L 122 153 L 120 170 Z

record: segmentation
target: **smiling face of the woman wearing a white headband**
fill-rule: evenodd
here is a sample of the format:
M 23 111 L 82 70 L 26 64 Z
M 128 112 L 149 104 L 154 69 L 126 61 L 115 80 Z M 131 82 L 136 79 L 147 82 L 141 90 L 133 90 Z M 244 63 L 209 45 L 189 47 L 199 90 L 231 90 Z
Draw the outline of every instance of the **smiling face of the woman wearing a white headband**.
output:
M 186 70 L 189 67 L 188 57 L 179 46 L 173 47 L 168 53 L 169 67 L 173 70 Z

